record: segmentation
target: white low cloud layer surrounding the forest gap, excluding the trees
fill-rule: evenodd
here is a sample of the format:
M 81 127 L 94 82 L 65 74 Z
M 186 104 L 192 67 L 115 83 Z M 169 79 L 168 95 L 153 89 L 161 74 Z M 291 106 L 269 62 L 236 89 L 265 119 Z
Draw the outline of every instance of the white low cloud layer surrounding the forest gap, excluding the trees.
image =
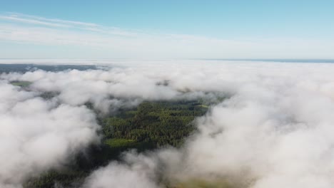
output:
M 0 158 L 0 183 L 20 184 L 31 172 L 57 167 L 96 140 L 98 126 L 82 106 L 86 102 L 112 113 L 142 100 L 217 102 L 224 96 L 196 120 L 199 132 L 181 149 L 125 153 L 123 161 L 93 172 L 83 187 L 163 187 L 192 179 L 252 188 L 332 187 L 333 64 L 161 61 L 122 66 L 2 74 L 0 125 L 6 131 L 0 133 L 0 150 L 8 155 Z M 12 80 L 32 84 L 20 89 L 9 84 Z M 45 92 L 54 97 L 40 98 Z

